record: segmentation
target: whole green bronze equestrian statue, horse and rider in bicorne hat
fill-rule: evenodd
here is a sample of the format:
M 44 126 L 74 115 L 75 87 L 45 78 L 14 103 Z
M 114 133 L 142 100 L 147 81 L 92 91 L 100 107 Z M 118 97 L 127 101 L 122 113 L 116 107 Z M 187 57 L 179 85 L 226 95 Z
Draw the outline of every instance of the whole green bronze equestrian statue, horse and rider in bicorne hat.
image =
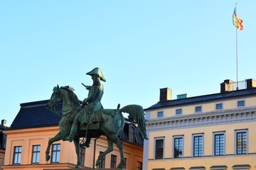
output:
M 139 105 L 128 105 L 123 108 L 117 109 L 104 109 L 102 106 L 101 98 L 103 96 L 103 85 L 101 81 L 106 81 L 99 68 L 92 69 L 87 72 L 87 75 L 92 77 L 92 86 L 85 86 L 88 96 L 82 101 L 78 100 L 72 89 L 69 87 L 55 86 L 47 108 L 53 113 L 58 103 L 63 103 L 61 119 L 59 123 L 60 131 L 55 137 L 49 140 L 46 149 L 46 161 L 50 159 L 50 146 L 53 142 L 58 140 L 69 140 L 75 144 L 75 152 L 77 154 L 77 165 L 80 166 L 80 145 L 90 147 L 90 139 L 92 137 L 100 137 L 101 135 L 107 136 L 107 150 L 99 155 L 96 161 L 96 166 L 100 164 L 106 154 L 112 152 L 114 149 L 113 144 L 116 144 L 120 152 L 120 162 L 117 168 L 122 168 L 125 164 L 124 149 L 121 140 L 119 140 L 119 133 L 124 128 L 124 116 L 122 113 L 129 113 L 129 116 L 134 118 L 137 123 L 142 138 L 148 140 L 146 136 L 146 126 L 144 120 L 144 109 Z M 59 114 L 59 113 L 57 113 Z M 86 142 L 80 144 L 80 137 L 86 137 Z

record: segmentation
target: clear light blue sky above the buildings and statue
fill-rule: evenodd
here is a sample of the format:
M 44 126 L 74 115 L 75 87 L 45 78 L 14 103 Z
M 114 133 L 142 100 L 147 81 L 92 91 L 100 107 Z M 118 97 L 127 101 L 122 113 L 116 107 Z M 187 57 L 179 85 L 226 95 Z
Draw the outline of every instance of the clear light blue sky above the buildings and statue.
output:
M 0 1 L 0 119 L 11 125 L 20 103 L 50 98 L 70 85 L 81 100 L 100 67 L 102 105 L 159 101 L 159 89 L 201 96 L 255 77 L 256 1 Z

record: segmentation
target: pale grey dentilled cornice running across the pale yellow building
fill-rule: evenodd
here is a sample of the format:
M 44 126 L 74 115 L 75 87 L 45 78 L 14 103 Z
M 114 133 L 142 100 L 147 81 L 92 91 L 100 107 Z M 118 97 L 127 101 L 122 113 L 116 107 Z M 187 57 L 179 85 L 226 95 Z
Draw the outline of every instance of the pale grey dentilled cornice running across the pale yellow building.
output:
M 161 120 L 146 121 L 146 130 L 171 130 L 201 126 L 223 125 L 256 121 L 256 109 L 236 110 L 233 112 L 191 114 Z

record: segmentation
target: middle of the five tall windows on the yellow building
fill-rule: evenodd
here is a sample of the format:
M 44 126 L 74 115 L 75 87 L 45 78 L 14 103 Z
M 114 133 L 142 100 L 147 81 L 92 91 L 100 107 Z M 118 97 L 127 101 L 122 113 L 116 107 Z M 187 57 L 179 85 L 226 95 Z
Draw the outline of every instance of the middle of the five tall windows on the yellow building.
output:
M 193 135 L 193 157 L 203 157 L 203 135 Z

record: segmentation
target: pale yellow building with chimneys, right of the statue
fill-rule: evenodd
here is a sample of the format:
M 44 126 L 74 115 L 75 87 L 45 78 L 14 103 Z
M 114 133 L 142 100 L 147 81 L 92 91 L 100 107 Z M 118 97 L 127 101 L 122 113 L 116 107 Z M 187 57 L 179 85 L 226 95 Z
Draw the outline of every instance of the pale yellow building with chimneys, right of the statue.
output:
M 255 80 L 220 84 L 219 94 L 160 101 L 146 111 L 144 169 L 256 169 Z

